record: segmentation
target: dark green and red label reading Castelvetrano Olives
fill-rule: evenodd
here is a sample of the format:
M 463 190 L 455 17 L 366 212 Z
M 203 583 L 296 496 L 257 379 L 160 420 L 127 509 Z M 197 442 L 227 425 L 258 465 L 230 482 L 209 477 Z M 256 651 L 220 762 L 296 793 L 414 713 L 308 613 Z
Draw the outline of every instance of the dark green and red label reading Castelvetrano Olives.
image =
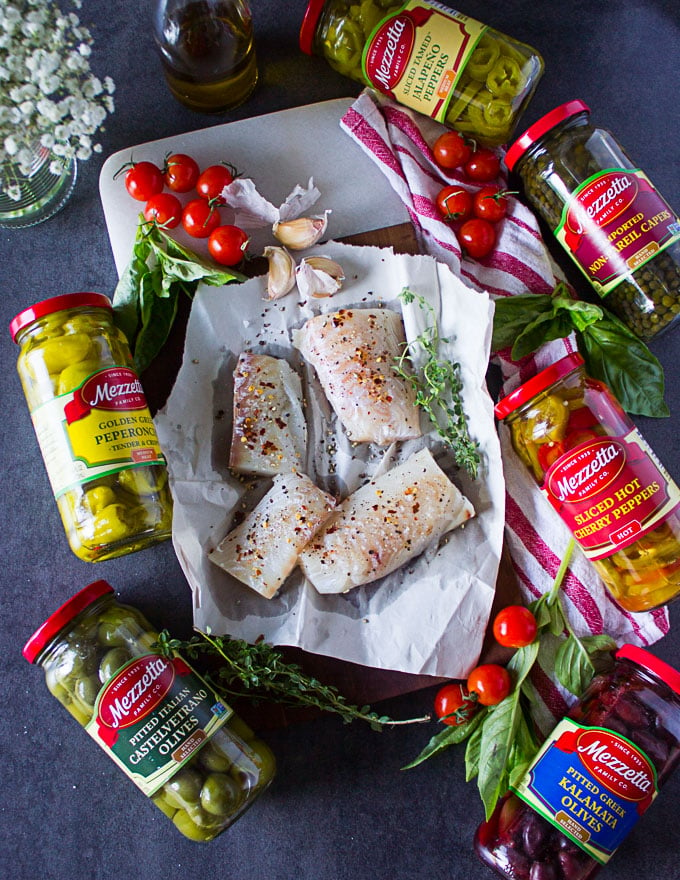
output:
M 144 654 L 106 682 L 86 730 L 151 796 L 231 715 L 183 659 Z

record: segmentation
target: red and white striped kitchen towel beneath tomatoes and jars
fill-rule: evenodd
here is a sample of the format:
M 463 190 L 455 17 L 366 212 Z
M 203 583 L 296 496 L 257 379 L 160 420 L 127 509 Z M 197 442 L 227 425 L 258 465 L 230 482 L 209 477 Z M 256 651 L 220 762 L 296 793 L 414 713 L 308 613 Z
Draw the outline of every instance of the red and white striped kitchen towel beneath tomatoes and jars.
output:
M 446 263 L 469 286 L 493 297 L 517 293 L 549 293 L 563 277 L 550 258 L 533 213 L 511 200 L 508 217 L 499 226 L 492 253 L 480 260 L 461 254 L 451 227 L 438 211 L 435 198 L 447 183 L 475 188 L 457 172 L 445 174 L 434 162 L 431 145 L 443 126 L 365 90 L 341 121 L 342 128 L 382 169 L 410 215 L 423 252 Z M 502 155 L 502 151 L 499 151 Z M 501 181 L 505 182 L 505 181 Z M 509 352 L 494 355 L 508 393 L 538 370 L 575 350 L 573 339 L 558 340 L 521 363 Z M 506 541 L 520 587 L 527 601 L 550 588 L 570 533 L 512 451 L 501 425 L 506 478 Z M 565 611 L 580 635 L 609 633 L 619 644 L 649 645 L 668 631 L 665 610 L 630 614 L 622 611 L 580 551 L 575 551 L 564 580 Z M 546 682 L 542 694 L 558 714 L 559 696 Z

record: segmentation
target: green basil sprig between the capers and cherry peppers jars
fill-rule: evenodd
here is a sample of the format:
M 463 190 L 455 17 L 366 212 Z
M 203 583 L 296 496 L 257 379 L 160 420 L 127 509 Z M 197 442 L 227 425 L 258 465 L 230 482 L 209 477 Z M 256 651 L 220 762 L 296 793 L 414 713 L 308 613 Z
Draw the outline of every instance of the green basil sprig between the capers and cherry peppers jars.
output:
M 511 348 L 512 359 L 520 360 L 573 332 L 588 375 L 608 385 L 627 412 L 669 415 L 663 367 L 647 345 L 600 306 L 574 299 L 565 284 L 551 294 L 499 297 L 495 306 L 494 352 Z

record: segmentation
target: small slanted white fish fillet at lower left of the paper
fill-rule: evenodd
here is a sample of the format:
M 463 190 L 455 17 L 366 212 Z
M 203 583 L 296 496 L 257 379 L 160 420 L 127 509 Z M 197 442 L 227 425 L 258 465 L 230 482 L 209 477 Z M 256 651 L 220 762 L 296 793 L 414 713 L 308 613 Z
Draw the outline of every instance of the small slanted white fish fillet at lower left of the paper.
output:
M 304 474 L 279 474 L 243 522 L 208 554 L 246 586 L 271 599 L 295 568 L 298 554 L 335 507 Z

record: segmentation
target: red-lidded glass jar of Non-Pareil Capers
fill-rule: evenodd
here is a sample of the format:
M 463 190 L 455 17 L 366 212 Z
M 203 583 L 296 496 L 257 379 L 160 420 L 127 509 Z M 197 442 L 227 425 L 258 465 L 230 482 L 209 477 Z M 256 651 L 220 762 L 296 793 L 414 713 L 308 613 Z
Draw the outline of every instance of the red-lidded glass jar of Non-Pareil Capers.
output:
M 530 203 L 607 306 L 649 341 L 680 315 L 680 220 L 583 101 L 534 123 L 506 155 Z

